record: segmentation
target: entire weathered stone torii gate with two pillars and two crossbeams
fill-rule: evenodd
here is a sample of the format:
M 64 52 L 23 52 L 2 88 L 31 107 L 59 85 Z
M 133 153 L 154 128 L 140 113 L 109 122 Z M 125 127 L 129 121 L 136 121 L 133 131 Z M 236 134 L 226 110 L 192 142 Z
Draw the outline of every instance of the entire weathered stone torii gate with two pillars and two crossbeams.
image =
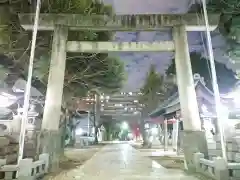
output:
M 34 15 L 20 14 L 20 23 L 25 30 L 32 30 Z M 219 22 L 218 14 L 209 15 L 211 30 Z M 172 28 L 173 40 L 163 42 L 78 42 L 68 41 L 69 31 L 160 31 Z M 54 31 L 51 63 L 42 128 L 58 131 L 64 83 L 66 52 L 160 52 L 174 51 L 177 83 L 184 124 L 185 158 L 191 167 L 192 154 L 203 152 L 205 136 L 201 133 L 200 117 L 194 89 L 192 68 L 187 41 L 187 31 L 205 31 L 205 21 L 196 14 L 183 15 L 91 15 L 41 14 L 40 31 Z M 186 144 L 186 143 L 184 143 Z M 190 148 L 192 147 L 192 148 Z M 206 152 L 204 152 L 206 153 Z M 189 154 L 188 156 L 186 156 Z

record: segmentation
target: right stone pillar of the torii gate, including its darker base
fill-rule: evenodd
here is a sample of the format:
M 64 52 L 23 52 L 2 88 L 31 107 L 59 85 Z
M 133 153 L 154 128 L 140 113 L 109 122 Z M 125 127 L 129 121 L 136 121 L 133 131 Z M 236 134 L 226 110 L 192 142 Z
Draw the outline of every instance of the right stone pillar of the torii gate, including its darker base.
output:
M 195 170 L 193 155 L 201 152 L 207 156 L 205 132 L 201 131 L 187 32 L 184 25 L 173 28 L 175 42 L 175 64 L 181 115 L 184 131 L 182 133 L 184 156 L 189 171 Z

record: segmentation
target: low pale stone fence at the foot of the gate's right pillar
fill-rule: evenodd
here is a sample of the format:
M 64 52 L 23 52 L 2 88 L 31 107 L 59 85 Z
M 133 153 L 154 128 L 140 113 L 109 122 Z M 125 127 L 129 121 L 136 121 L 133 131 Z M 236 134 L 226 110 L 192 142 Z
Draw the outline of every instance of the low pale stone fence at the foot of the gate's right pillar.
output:
M 221 157 L 214 157 L 213 160 L 204 159 L 202 153 L 194 154 L 196 172 L 215 180 L 239 180 L 240 163 L 227 163 Z

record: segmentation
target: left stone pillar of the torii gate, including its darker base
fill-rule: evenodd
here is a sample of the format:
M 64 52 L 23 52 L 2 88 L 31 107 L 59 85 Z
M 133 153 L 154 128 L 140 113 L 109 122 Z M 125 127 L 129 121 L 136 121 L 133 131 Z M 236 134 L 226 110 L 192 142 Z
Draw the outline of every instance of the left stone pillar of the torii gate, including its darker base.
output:
M 50 153 L 50 171 L 59 166 L 62 132 L 59 130 L 63 96 L 64 74 L 66 66 L 66 44 L 68 27 L 57 25 L 53 33 L 51 62 L 49 67 L 48 86 L 42 120 L 43 152 Z M 56 152 L 58 151 L 58 152 Z

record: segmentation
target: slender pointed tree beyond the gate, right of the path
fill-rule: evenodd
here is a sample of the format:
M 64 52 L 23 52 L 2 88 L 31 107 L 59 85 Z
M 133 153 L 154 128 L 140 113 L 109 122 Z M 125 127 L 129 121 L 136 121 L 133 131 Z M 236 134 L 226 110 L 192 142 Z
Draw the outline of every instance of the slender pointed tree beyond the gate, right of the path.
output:
M 143 104 L 141 111 L 140 130 L 143 136 L 143 146 L 148 145 L 147 134 L 145 132 L 145 119 L 148 114 L 153 111 L 161 101 L 164 100 L 169 84 L 166 83 L 165 77 L 158 74 L 154 65 L 150 66 L 145 83 L 141 88 L 139 103 Z

